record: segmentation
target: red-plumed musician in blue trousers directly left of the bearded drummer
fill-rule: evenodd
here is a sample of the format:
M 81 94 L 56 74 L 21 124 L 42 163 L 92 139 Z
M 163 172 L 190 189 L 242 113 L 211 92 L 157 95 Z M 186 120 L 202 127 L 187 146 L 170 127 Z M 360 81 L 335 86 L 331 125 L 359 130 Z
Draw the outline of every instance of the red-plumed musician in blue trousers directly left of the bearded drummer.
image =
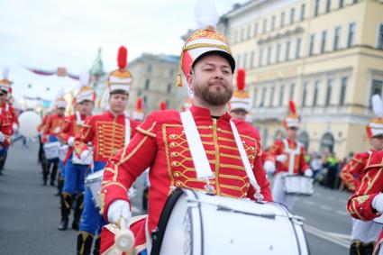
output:
M 74 149 L 80 159 L 86 160 L 88 157 L 92 157 L 92 152 L 87 146 L 88 142 L 92 143 L 94 172 L 102 170 L 107 160 L 130 141 L 138 125 L 135 121 L 125 117 L 124 114 L 132 86 L 132 74 L 126 69 L 126 64 L 127 50 L 122 46 L 118 52 L 119 68 L 109 74 L 107 81 L 109 110 L 105 114 L 87 118 L 79 135 L 75 137 Z M 97 198 L 95 197 L 95 199 Z M 89 188 L 86 189 L 81 216 L 78 232 L 78 254 L 90 254 L 93 240 L 96 234 L 101 232 L 105 220 L 92 201 Z M 98 237 L 95 241 L 94 254 L 99 253 L 99 247 L 100 238 Z

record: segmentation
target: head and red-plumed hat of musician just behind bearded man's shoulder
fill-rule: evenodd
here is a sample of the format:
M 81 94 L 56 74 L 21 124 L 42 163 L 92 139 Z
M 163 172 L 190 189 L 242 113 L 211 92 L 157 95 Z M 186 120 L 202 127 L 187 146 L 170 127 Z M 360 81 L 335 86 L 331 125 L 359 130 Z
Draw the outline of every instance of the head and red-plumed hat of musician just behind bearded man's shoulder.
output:
M 237 71 L 237 88 L 234 90 L 230 100 L 230 114 L 234 119 L 246 121 L 250 112 L 250 96 L 245 91 L 246 71 L 243 68 Z

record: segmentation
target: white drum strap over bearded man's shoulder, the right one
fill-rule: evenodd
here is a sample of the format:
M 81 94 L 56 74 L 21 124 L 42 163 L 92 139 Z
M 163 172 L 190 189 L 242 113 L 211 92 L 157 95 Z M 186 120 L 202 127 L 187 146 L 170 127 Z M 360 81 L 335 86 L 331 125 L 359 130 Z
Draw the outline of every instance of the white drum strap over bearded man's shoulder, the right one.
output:
M 263 195 L 260 194 L 260 186 L 258 185 L 257 179 L 254 177 L 254 172 L 252 171 L 249 158 L 247 157 L 247 154 L 246 154 L 246 150 L 243 148 L 240 134 L 238 133 L 237 127 L 232 121 L 230 121 L 230 125 L 232 127 L 235 143 L 237 144 L 238 150 L 240 150 L 241 159 L 245 167 L 247 177 L 250 180 L 251 186 L 254 187 L 255 189 L 255 198 L 257 198 L 258 201 L 262 201 Z

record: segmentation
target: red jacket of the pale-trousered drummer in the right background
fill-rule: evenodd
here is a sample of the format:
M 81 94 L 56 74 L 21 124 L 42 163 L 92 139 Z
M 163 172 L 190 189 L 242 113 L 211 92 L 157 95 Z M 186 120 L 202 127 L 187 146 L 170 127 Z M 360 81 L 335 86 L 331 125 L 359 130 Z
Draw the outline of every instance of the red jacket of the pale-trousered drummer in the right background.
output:
M 285 142 L 287 144 L 285 144 Z M 289 151 L 293 152 L 294 155 L 290 156 L 291 152 Z M 277 156 L 281 154 L 285 154 L 287 156 L 285 163 L 277 161 Z M 288 167 L 290 161 L 292 160 L 291 157 L 294 157 L 294 174 L 303 174 L 305 170 L 309 168 L 309 166 L 305 162 L 305 146 L 300 142 L 291 141 L 289 139 L 275 141 L 274 144 L 268 150 L 267 159 L 276 163 L 276 172 L 278 173 L 288 172 Z

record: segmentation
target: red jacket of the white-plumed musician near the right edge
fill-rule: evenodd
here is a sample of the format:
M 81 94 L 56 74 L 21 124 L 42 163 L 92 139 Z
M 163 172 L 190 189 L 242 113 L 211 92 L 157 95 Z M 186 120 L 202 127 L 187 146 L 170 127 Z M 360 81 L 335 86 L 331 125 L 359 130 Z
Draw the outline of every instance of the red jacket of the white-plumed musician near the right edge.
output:
M 340 177 L 351 191 L 356 191 L 360 186 L 360 181 L 364 176 L 364 168 L 367 166 L 367 161 L 372 151 L 374 150 L 355 154 L 350 162 L 342 168 Z

